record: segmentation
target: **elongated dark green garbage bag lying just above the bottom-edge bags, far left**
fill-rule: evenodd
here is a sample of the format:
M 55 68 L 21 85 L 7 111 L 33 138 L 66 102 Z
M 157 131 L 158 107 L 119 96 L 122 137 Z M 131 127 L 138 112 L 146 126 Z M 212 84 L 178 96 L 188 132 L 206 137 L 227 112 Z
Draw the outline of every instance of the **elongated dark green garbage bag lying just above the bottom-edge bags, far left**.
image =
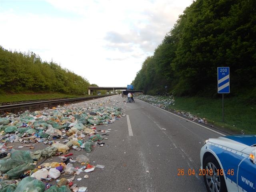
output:
M 18 179 L 25 171 L 32 170 L 34 168 L 36 168 L 36 165 L 33 163 L 22 164 L 8 171 L 6 175 L 8 175 L 8 178 L 10 179 Z

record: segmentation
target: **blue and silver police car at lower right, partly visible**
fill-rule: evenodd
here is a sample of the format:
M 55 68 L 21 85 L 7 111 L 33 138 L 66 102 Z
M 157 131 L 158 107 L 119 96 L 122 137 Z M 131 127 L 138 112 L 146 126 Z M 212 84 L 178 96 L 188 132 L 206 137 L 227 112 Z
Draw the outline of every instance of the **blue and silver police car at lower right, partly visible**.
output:
M 256 135 L 210 138 L 200 160 L 208 192 L 256 192 Z

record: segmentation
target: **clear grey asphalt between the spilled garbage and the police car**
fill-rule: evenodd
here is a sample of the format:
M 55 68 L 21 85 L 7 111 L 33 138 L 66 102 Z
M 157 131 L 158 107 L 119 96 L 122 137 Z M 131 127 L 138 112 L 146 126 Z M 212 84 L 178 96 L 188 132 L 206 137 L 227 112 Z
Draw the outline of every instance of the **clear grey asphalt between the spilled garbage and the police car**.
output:
M 146 102 L 113 97 L 129 118 L 111 124 L 107 145 L 88 154 L 106 166 L 92 172 L 88 191 L 206 191 L 199 175 L 200 148 L 220 134 Z M 186 175 L 178 176 L 179 169 Z M 189 176 L 189 170 L 195 175 Z

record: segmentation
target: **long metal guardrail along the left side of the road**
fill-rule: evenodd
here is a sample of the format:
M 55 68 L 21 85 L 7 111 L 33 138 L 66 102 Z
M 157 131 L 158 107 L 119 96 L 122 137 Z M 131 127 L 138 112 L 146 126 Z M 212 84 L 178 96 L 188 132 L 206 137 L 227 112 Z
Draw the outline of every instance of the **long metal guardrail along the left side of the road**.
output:
M 69 98 L 69 99 L 58 99 L 58 100 L 46 100 L 46 101 L 35 101 L 35 102 L 27 102 L 27 103 L 19 103 L 19 104 L 10 104 L 10 105 L 2 105 L 0 106 L 0 112 L 7 112 L 14 109 L 20 108 L 29 108 L 32 106 L 42 106 L 49 104 L 58 104 L 72 101 L 80 101 L 80 100 L 90 100 L 94 98 L 101 98 L 106 96 L 111 96 L 114 94 L 106 94 L 106 95 L 97 95 L 97 96 L 87 96 L 87 97 L 79 97 L 79 98 Z

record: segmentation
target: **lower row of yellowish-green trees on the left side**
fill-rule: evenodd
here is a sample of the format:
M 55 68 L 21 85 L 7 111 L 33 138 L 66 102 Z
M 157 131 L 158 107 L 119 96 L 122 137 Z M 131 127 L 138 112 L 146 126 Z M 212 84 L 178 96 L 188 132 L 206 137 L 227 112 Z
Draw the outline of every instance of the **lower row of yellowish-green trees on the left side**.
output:
M 12 52 L 0 46 L 0 91 L 84 94 L 89 82 L 33 52 Z

